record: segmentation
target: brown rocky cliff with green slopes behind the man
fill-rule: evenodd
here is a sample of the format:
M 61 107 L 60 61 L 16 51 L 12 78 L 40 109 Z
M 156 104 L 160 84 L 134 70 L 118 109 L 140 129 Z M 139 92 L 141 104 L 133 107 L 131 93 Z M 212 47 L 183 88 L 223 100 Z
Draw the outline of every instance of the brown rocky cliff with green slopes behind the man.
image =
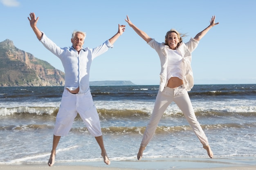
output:
M 0 42 L 0 86 L 64 86 L 62 71 L 17 49 L 11 40 Z

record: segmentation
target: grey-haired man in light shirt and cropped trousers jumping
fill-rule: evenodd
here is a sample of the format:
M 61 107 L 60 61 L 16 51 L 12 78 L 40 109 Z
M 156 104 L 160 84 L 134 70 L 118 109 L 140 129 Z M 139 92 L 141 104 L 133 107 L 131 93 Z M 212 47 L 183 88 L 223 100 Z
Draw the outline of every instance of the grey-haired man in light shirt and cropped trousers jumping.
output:
M 73 32 L 71 38 L 72 47 L 60 48 L 37 28 L 36 24 L 39 17 L 36 18 L 35 13 L 30 13 L 29 16 L 30 26 L 36 37 L 49 51 L 61 59 L 65 70 L 65 87 L 61 105 L 56 116 L 52 152 L 48 165 L 52 166 L 54 164 L 58 142 L 61 136 L 67 135 L 70 131 L 77 113 L 85 122 L 89 132 L 95 137 L 101 148 L 101 156 L 104 162 L 109 165 L 110 160 L 103 144 L 99 115 L 90 93 L 89 73 L 92 60 L 108 51 L 110 47 L 113 47 L 114 42 L 125 31 L 125 25 L 118 24 L 118 32 L 94 49 L 83 48 L 86 35 L 81 31 Z

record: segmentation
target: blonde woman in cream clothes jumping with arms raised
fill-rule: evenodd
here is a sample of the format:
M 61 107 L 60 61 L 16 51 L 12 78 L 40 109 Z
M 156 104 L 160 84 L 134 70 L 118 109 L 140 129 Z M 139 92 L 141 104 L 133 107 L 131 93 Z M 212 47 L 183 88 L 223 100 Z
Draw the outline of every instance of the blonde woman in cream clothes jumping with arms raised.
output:
M 215 16 L 211 18 L 210 25 L 206 29 L 191 38 L 189 42 L 183 43 L 181 35 L 174 29 L 166 33 L 165 43 L 159 43 L 155 39 L 150 38 L 144 31 L 137 28 L 129 19 L 125 21 L 132 29 L 145 40 L 155 51 L 157 51 L 161 62 L 160 86 L 157 93 L 153 113 L 141 141 L 141 146 L 137 154 L 140 160 L 147 144 L 152 139 L 157 124 L 164 114 L 164 111 L 171 102 L 175 102 L 182 110 L 186 120 L 195 132 L 203 148 L 207 150 L 210 158 L 213 158 L 213 152 L 209 146 L 208 139 L 204 134 L 199 122 L 195 117 L 195 113 L 188 95 L 188 91 L 194 85 L 193 74 L 191 69 L 191 53 L 198 46 L 199 41 L 204 35 L 215 25 Z

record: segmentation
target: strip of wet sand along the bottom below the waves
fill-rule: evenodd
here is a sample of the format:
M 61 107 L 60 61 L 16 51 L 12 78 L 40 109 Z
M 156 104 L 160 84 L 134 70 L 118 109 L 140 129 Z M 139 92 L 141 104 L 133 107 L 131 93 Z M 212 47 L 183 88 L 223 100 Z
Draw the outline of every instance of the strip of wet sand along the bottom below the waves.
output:
M 2 170 L 255 170 L 256 157 L 173 157 L 113 160 L 110 165 L 103 161 L 0 164 Z

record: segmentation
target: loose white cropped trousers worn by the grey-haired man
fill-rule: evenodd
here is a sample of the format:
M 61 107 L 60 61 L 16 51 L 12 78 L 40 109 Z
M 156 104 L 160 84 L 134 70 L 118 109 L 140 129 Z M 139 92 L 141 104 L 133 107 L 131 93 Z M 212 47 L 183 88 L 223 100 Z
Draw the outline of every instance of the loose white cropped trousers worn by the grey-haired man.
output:
M 72 94 L 67 89 L 63 92 L 61 106 L 56 116 L 54 135 L 67 135 L 72 128 L 77 113 L 79 113 L 87 129 L 94 137 L 102 135 L 99 115 L 94 106 L 91 92 Z

